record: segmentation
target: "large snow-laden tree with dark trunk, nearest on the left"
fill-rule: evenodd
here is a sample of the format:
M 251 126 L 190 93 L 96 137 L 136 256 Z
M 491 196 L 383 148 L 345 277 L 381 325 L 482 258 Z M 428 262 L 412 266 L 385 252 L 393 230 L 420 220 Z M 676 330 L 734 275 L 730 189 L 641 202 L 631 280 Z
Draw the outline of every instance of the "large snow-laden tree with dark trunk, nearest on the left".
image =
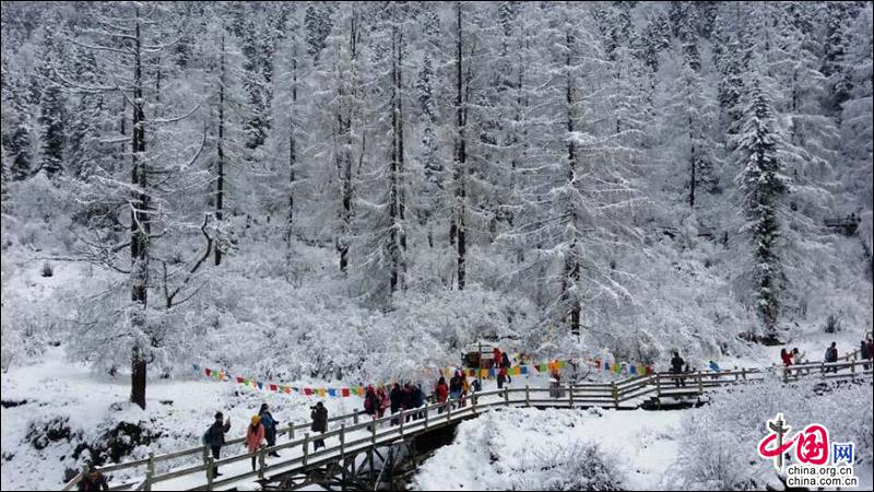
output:
M 115 366 L 128 354 L 131 363 L 131 401 L 145 408 L 146 368 L 150 363 L 167 361 L 167 352 L 184 350 L 185 340 L 168 321 L 176 314 L 173 309 L 186 296 L 192 295 L 191 279 L 211 254 L 212 236 L 208 230 L 209 218 L 194 226 L 186 210 L 189 202 L 178 200 L 179 191 L 205 185 L 205 173 L 198 171 L 196 163 L 203 149 L 203 136 L 193 148 L 180 143 L 180 136 L 191 134 L 173 128 L 193 114 L 173 118 L 155 118 L 145 108 L 155 98 L 155 85 L 150 84 L 144 66 L 172 44 L 154 44 L 155 38 L 167 38 L 156 22 L 165 14 L 160 5 L 111 4 L 94 5 L 92 21 L 99 28 L 82 30 L 74 44 L 102 58 L 101 66 L 114 77 L 98 78 L 117 81 L 115 84 L 82 85 L 76 81 L 64 83 L 87 92 L 120 93 L 133 108 L 131 128 L 131 166 L 121 168 L 97 168 L 91 179 L 82 184 L 76 195 L 91 203 L 103 203 L 108 210 L 130 210 L 127 237 L 119 237 L 116 227 L 92 229 L 93 237 L 83 237 L 82 251 L 87 259 L 102 267 L 122 273 L 129 286 L 129 296 L 119 296 L 119 289 L 110 289 L 83 304 L 84 317 L 90 317 L 75 338 L 71 352 L 95 364 Z M 76 33 L 79 34 L 79 33 Z M 97 55 L 99 54 L 99 55 Z M 177 107 L 190 104 L 191 94 L 174 94 L 164 87 L 162 104 Z M 174 97 L 170 97 L 174 96 Z M 197 106 L 194 107 L 197 108 Z M 169 114 L 169 110 L 162 112 Z M 168 133 L 172 139 L 168 139 Z M 197 130 L 193 132 L 197 134 Z M 178 163 L 170 155 L 189 151 L 193 157 L 188 163 Z M 193 215 L 197 216 L 198 212 Z M 197 219 L 193 219 L 197 220 Z M 186 262 L 174 253 L 172 244 L 162 245 L 157 239 L 169 235 L 199 230 L 206 242 L 205 253 Z M 129 249 L 127 258 L 125 250 Z M 158 268 L 160 266 L 160 268 Z M 153 294 L 150 296 L 150 292 Z M 181 297 L 179 294 L 184 294 Z M 155 302 L 157 296 L 158 302 Z M 151 297 L 151 303 L 150 303 Z M 161 306 L 163 309 L 158 308 Z M 99 327 L 94 326 L 94 319 Z

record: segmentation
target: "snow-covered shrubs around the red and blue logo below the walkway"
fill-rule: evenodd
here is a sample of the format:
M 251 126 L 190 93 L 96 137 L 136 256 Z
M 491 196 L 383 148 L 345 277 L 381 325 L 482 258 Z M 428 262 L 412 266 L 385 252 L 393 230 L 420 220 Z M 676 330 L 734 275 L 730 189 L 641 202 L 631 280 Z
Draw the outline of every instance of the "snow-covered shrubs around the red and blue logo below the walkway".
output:
M 874 394 L 867 384 L 823 385 L 779 377 L 716 394 L 689 412 L 678 440 L 680 457 L 663 485 L 676 490 L 751 490 L 776 483 L 773 466 L 758 457 L 765 425 L 783 413 L 793 430 L 820 423 L 832 441 L 855 443 L 855 466 L 871 467 Z M 794 432 L 794 431 L 793 431 Z

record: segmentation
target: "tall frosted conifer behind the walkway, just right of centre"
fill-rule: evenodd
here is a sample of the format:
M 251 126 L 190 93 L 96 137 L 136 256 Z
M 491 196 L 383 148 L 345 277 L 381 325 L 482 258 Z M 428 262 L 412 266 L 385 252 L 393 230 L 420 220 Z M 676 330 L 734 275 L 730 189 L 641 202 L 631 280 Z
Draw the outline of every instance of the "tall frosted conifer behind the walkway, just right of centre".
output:
M 528 175 L 523 207 L 536 212 L 503 237 L 532 245 L 531 263 L 519 274 L 545 277 L 538 282 L 548 297 L 542 298 L 543 326 L 558 324 L 578 335 L 588 301 L 627 295 L 607 251 L 625 244 L 628 215 L 619 211 L 633 194 L 634 150 L 616 139 L 614 108 L 606 104 L 611 63 L 600 50 L 591 8 L 560 2 L 542 5 L 542 14 L 540 63 L 531 70 L 539 87 L 532 97 L 541 102 L 529 133 L 536 136 L 536 156 L 520 169 Z M 586 315 L 591 321 L 597 313 Z

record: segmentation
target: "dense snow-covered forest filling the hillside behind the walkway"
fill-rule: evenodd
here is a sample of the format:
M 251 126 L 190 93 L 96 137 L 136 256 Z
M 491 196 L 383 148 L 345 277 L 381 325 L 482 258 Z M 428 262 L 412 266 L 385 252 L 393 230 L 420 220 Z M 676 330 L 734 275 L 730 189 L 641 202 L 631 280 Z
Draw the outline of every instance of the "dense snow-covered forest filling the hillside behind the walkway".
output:
M 870 2 L 3 2 L 1 40 L 4 400 L 872 330 Z

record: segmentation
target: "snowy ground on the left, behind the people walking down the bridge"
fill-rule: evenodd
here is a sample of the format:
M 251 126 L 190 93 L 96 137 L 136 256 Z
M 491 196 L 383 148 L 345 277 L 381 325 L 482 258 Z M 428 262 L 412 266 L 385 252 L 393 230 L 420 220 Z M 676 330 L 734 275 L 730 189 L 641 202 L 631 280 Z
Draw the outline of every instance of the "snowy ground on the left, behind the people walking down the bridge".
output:
M 28 438 L 32 423 L 67 419 L 74 443 L 93 443 L 119 422 L 141 423 L 153 433 L 156 443 L 140 446 L 125 460 L 145 457 L 149 450 L 168 453 L 200 445 L 200 438 L 221 410 L 231 418 L 229 437 L 241 436 L 261 402 L 272 407 L 281 425 L 309 422 L 309 407 L 315 399 L 299 395 L 256 393 L 236 384 L 205 378 L 150 382 L 146 410 L 131 406 L 129 380 L 92 374 L 79 364 L 64 361 L 60 349 L 46 354 L 45 362 L 14 367 L 2 375 L 3 401 L 25 405 L 4 408 L 2 425 L 2 489 L 57 489 L 66 468 L 75 468 L 75 444 L 67 440 L 36 449 Z M 324 399 L 329 417 L 361 408 L 357 397 Z M 226 453 L 239 453 L 243 448 Z

